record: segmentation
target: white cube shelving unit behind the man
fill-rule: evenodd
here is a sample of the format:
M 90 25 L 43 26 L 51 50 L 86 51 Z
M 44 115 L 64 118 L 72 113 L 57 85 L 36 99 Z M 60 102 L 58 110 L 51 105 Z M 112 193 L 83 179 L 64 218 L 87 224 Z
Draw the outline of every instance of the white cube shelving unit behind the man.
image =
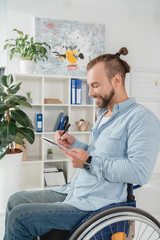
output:
M 75 78 L 75 77 L 74 77 Z M 35 132 L 35 142 L 33 145 L 27 143 L 25 161 L 22 162 L 21 189 L 43 189 L 43 171 L 48 167 L 62 169 L 66 182 L 70 182 L 74 176 L 74 169 L 70 161 L 56 147 L 50 146 L 42 141 L 45 136 L 54 139 L 54 127 L 60 112 L 69 116 L 71 127 L 69 132 L 81 141 L 88 143 L 89 133 L 95 122 L 95 103 L 88 97 L 88 85 L 86 78 L 76 77 L 82 80 L 82 105 L 71 104 L 71 79 L 72 76 L 44 76 L 44 75 L 24 75 L 15 74 L 15 82 L 22 82 L 19 94 L 26 96 L 26 92 L 31 92 L 32 109 L 25 108 L 25 112 L 30 116 L 36 129 L 36 114 L 43 114 L 43 131 Z M 45 98 L 57 98 L 62 104 L 44 104 Z M 81 118 L 90 122 L 87 132 L 79 132 L 75 122 Z M 47 149 L 53 149 L 53 159 L 47 159 Z

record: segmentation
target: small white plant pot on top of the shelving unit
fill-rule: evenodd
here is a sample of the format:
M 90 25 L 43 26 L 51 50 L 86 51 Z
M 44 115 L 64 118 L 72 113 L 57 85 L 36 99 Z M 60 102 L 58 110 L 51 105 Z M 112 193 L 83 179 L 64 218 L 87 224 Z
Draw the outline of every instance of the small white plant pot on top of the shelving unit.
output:
M 33 60 L 20 60 L 19 68 L 21 73 L 33 73 L 35 62 Z

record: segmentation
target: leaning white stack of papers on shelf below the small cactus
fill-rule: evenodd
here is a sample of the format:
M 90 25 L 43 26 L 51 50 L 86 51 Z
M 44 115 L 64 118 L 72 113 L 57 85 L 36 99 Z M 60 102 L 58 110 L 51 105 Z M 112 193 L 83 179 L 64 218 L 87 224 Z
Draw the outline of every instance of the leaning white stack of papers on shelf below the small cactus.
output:
M 56 167 L 44 169 L 44 181 L 47 187 L 62 186 L 66 183 L 63 170 Z

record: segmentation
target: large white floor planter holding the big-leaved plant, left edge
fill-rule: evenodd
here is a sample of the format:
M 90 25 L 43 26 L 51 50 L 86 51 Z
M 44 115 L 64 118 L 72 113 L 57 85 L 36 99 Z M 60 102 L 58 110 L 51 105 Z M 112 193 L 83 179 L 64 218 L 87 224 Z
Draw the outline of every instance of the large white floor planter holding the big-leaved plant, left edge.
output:
M 6 154 L 0 160 L 0 212 L 5 212 L 8 198 L 19 191 L 22 153 Z

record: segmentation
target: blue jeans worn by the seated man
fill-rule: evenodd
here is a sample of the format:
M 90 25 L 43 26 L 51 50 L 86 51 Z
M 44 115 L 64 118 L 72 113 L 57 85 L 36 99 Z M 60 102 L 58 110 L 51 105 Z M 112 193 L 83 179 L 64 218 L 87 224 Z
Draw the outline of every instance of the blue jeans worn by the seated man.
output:
M 4 240 L 31 240 L 52 229 L 71 230 L 90 211 L 63 203 L 65 198 L 53 190 L 13 194 L 6 209 Z

